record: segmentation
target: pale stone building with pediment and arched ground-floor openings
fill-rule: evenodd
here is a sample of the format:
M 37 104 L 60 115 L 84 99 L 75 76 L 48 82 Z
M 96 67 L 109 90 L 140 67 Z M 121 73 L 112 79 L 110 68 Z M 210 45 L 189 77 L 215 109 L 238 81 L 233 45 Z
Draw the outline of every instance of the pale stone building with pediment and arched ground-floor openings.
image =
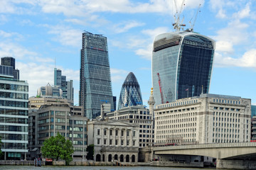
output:
M 96 162 L 138 162 L 139 125 L 124 120 L 88 122 L 88 145 Z

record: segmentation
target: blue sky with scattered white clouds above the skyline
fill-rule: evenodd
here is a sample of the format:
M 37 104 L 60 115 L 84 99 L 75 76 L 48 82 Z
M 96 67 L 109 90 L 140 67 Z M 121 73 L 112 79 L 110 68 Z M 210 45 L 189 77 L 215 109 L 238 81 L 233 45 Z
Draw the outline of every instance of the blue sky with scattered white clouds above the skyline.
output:
M 176 0 L 181 6 L 181 0 Z M 216 41 L 210 93 L 252 98 L 256 77 L 256 2 L 186 0 L 181 18 Z M 179 8 L 179 7 L 178 7 Z M 134 72 L 145 105 L 151 88 L 154 37 L 174 31 L 174 0 L 0 0 L 0 57 L 16 58 L 29 96 L 53 84 L 53 69 L 73 79 L 78 103 L 82 32 L 107 37 L 112 91 L 119 98 Z

